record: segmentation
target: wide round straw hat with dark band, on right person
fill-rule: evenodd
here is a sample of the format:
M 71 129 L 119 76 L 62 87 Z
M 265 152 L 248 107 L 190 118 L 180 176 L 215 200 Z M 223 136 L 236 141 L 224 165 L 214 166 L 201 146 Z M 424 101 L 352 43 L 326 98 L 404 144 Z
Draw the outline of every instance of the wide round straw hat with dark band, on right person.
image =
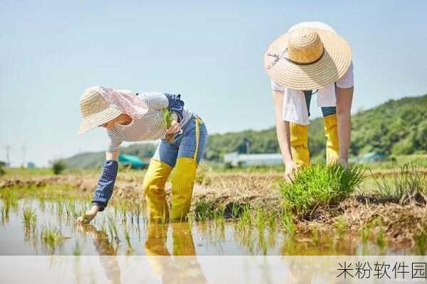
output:
M 273 40 L 264 68 L 274 82 L 291 89 L 321 89 L 339 80 L 352 62 L 346 40 L 332 31 L 296 28 Z

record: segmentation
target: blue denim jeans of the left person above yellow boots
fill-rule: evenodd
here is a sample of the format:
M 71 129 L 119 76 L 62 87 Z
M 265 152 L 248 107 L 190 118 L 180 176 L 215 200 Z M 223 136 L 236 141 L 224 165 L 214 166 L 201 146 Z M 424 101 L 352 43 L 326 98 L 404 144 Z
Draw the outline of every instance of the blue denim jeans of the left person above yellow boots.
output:
M 193 116 L 182 128 L 182 133 L 176 134 L 171 143 L 167 143 L 164 139 L 160 141 L 153 158 L 167 163 L 173 168 L 176 164 L 176 158 L 193 158 L 194 152 L 198 148 L 196 162 L 199 163 L 204 153 L 207 138 L 206 126 L 201 122 L 199 124 L 199 146 L 196 146 L 196 117 Z

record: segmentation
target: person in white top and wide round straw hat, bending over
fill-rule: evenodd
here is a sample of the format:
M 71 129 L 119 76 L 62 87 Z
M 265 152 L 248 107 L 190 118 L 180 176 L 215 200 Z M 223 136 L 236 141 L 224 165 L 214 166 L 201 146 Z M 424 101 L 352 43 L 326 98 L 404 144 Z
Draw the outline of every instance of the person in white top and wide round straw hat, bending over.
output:
M 354 85 L 348 43 L 326 23 L 298 23 L 268 46 L 264 68 L 271 80 L 285 178 L 291 180 L 295 171 L 310 165 L 307 132 L 313 94 L 322 109 L 327 163 L 347 167 Z

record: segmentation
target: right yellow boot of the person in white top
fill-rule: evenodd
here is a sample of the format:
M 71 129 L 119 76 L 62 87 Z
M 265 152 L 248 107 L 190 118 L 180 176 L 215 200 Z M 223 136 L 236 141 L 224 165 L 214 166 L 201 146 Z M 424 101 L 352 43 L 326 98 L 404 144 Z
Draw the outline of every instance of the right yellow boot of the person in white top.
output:
M 339 158 L 339 143 L 337 129 L 337 114 L 331 114 L 323 118 L 326 136 L 326 163 L 330 165 Z

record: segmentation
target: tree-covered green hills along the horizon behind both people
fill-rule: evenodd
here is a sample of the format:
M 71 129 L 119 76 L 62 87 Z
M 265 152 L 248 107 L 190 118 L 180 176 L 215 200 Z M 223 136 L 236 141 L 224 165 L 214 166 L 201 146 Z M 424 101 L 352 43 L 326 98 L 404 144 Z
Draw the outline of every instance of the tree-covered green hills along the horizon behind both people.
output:
M 273 111 L 273 107 L 272 107 Z M 325 160 L 325 134 L 322 118 L 309 126 L 310 155 L 314 161 Z M 221 161 L 225 153 L 244 153 L 250 144 L 251 153 L 279 153 L 275 127 L 262 131 L 239 131 L 209 136 L 204 158 Z M 139 143 L 121 148 L 121 153 L 147 158 L 155 146 Z M 384 104 L 359 111 L 352 116 L 351 155 L 371 151 L 387 155 L 427 153 L 427 94 L 389 100 Z M 102 164 L 105 153 L 81 153 L 65 162 L 73 168 L 94 168 Z

